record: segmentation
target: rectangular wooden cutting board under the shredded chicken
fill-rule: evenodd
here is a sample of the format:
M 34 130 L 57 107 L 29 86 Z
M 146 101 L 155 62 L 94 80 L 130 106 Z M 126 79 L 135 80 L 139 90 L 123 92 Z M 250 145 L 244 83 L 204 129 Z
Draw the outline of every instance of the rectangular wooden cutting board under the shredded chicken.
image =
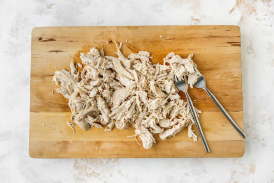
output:
M 201 89 L 189 88 L 196 107 L 203 111 L 200 123 L 211 150 L 206 154 L 198 142 L 187 137 L 187 129 L 176 137 L 161 140 L 145 150 L 138 145 L 133 128 L 104 131 L 91 128 L 75 133 L 66 124 L 70 118 L 68 100 L 55 91 L 56 70 L 69 70 L 69 63 L 81 62 L 79 52 L 91 47 L 116 52 L 114 40 L 123 42 L 127 56 L 141 50 L 151 52 L 152 61 L 162 63 L 169 52 L 193 60 L 206 84 L 235 122 L 243 129 L 241 36 L 238 26 L 90 26 L 37 27 L 32 31 L 30 79 L 29 156 L 36 158 L 88 157 L 241 157 L 244 139 Z M 107 44 L 106 41 L 110 43 Z M 182 95 L 184 98 L 184 96 Z M 196 127 L 194 127 L 196 129 Z M 198 135 L 198 132 L 196 132 Z M 199 135 L 198 135 L 199 136 Z M 138 138 L 140 141 L 140 139 Z

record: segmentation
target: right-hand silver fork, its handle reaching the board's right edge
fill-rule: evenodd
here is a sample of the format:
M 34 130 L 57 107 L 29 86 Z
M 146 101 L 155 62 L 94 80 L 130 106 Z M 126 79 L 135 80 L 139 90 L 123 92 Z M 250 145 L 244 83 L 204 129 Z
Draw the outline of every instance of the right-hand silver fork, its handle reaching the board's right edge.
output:
M 206 88 L 206 79 L 205 77 L 199 72 L 197 68 L 195 68 L 195 71 L 198 73 L 198 79 L 194 83 L 194 86 L 197 88 L 202 88 L 206 90 L 206 93 L 209 95 L 209 97 L 212 99 L 212 101 L 219 107 L 219 109 L 224 113 L 224 115 L 228 118 L 228 121 L 231 123 L 231 125 L 240 133 L 240 135 L 243 138 L 246 138 L 245 133 L 238 127 L 238 125 L 234 122 L 234 120 L 229 116 L 228 112 L 225 110 L 225 108 L 219 103 L 219 101 L 216 99 L 216 97 Z

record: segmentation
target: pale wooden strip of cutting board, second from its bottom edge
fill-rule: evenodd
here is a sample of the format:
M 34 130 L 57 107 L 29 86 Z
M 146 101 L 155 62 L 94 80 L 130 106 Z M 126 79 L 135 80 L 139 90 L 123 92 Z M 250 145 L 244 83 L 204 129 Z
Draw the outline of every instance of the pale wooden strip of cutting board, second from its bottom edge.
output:
M 83 131 L 75 126 L 75 133 L 67 125 L 70 119 L 70 112 L 31 112 L 30 118 L 30 140 L 46 141 L 46 140 L 64 140 L 64 141 L 135 141 L 135 138 L 127 138 L 127 136 L 135 134 L 134 128 L 127 130 L 114 129 L 113 131 L 104 131 L 104 129 L 91 128 L 89 131 Z M 230 112 L 235 121 L 241 120 L 243 112 Z M 228 120 L 221 112 L 205 111 L 200 115 L 201 126 L 205 129 L 207 140 L 241 140 L 242 137 L 233 130 Z M 56 122 L 58 120 L 58 122 Z M 44 126 L 45 124 L 45 126 Z M 214 127 L 214 128 L 212 128 Z M 240 128 L 243 128 L 240 126 Z M 197 130 L 193 127 L 193 130 Z M 220 135 L 220 133 L 222 135 Z M 154 135 L 157 141 L 162 141 L 159 135 Z M 176 138 L 167 138 L 167 141 L 190 141 L 187 137 L 187 130 L 176 135 Z M 137 144 L 138 145 L 138 144 Z

